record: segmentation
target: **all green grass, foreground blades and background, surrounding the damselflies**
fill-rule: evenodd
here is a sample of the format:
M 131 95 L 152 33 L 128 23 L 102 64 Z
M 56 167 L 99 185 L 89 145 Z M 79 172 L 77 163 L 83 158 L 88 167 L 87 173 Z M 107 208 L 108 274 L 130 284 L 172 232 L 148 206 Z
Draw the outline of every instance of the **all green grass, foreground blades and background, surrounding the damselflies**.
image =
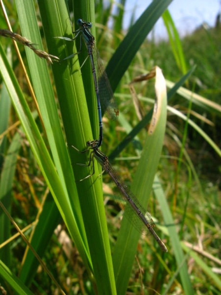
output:
M 84 150 L 98 135 L 89 60 L 79 71 L 85 47 L 75 59 L 51 65 L 19 44 L 29 86 L 12 40 L 0 37 L 0 201 L 51 273 L 0 210 L 0 291 L 55 294 L 60 286 L 65 294 L 220 294 L 221 32 L 202 27 L 180 40 L 166 10 L 170 2 L 152 1 L 128 32 L 124 1 L 111 28 L 112 4 L 97 1 L 94 8 L 82 0 L 70 7 L 75 20 L 96 24 L 96 46 L 109 60 L 120 116 L 117 123 L 104 117 L 102 151 L 142 205 L 148 203 L 167 253 L 121 221 L 110 177 L 96 161 L 95 174 L 79 181 L 92 168 L 75 164 L 89 156 L 71 145 Z M 72 37 L 65 1 L 34 4 L 7 1 L 12 30 L 60 59 L 76 52 L 79 39 L 75 46 L 54 38 Z M 147 40 L 161 16 L 169 41 Z M 158 110 L 152 135 L 155 81 L 133 84 L 137 108 L 129 83 L 153 66 L 166 79 L 167 109 Z

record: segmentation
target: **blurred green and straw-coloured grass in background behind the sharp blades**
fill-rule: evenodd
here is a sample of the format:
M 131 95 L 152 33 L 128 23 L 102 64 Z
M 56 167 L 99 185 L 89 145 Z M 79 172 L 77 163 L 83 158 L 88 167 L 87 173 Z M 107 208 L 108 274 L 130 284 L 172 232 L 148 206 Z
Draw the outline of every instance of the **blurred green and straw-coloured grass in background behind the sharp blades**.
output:
M 112 3 L 109 6 L 107 3 L 104 5 L 102 1 L 97 1 L 95 6 L 96 46 L 104 59 L 104 64 L 111 59 L 112 53 L 125 35 L 125 31 L 122 29 L 123 4 L 122 2 L 118 6 L 114 18 L 111 18 Z M 16 10 L 13 9 L 11 2 L 8 2 L 7 9 L 10 9 L 9 16 L 13 31 L 19 33 Z M 109 22 L 110 18 L 111 23 Z M 1 17 L 1 28 L 2 23 Z M 43 32 L 42 38 L 44 41 Z M 11 40 L 3 38 L 1 42 L 5 49 L 11 44 Z M 175 38 L 175 42 L 178 43 L 179 40 Z M 221 27 L 208 29 L 202 26 L 192 34 L 182 38 L 181 45 L 186 68 L 189 70 L 193 65 L 196 65 L 196 69 L 185 87 L 220 106 Z M 23 59 L 26 60 L 24 48 L 19 47 Z M 10 46 L 10 50 L 14 57 L 13 47 Z M 27 85 L 23 72 L 19 67 L 18 59 L 14 57 L 12 61 L 20 85 L 23 86 L 24 93 L 27 93 L 28 104 L 31 109 L 35 110 L 35 106 L 28 95 Z M 115 90 L 120 113 L 124 114 L 132 127 L 138 123 L 139 119 L 128 84 L 139 74 L 149 71 L 154 65 L 162 68 L 167 81 L 176 83 L 184 74 L 183 68 L 179 66 L 175 59 L 174 51 L 171 48 L 171 40 L 170 42 L 165 40 L 156 41 L 153 36 L 152 39 L 143 43 Z M 152 107 L 151 100 L 155 97 L 154 82 L 148 82 L 148 84 L 142 82 L 137 84 L 135 89 L 141 101 L 141 109 L 146 114 Z M 1 88 L 1 93 L 2 91 L 3 88 Z M 190 101 L 180 94 L 175 94 L 171 98 L 169 106 L 185 115 L 190 114 L 190 118 L 197 126 L 203 129 L 217 147 L 221 147 L 221 111 L 219 108 L 209 108 L 206 103 L 203 105 L 191 105 Z M 0 110 L 0 114 L 2 116 L 2 110 Z M 2 169 L 8 143 L 10 143 L 17 131 L 17 127 L 11 129 L 9 127 L 13 126 L 17 119 L 13 108 L 11 108 L 6 133 L 7 140 L 4 139 L 4 143 L 1 142 L 0 169 Z M 118 123 L 115 123 L 104 118 L 102 150 L 105 154 L 109 155 L 118 146 L 127 134 L 126 128 L 127 126 L 120 119 Z M 144 144 L 145 135 L 146 130 L 141 130 L 138 139 L 133 140 L 120 153 L 118 159 L 116 159 L 117 161 L 114 162 L 117 171 L 120 172 L 126 184 L 133 181 L 138 165 L 136 157 L 139 157 L 139 149 Z M 2 139 L 3 136 L 0 136 L 0 140 Z M 201 253 L 199 257 L 205 264 L 201 263 L 200 265 L 197 259 L 194 259 L 187 250 L 186 259 L 195 294 L 219 294 L 221 288 L 219 280 L 216 280 L 212 275 L 212 273 L 219 272 L 221 268 L 221 261 L 219 260 L 221 253 L 220 172 L 220 154 L 202 138 L 196 129 L 190 125 L 187 126 L 182 118 L 168 110 L 165 145 L 158 176 L 161 178 L 161 184 L 173 219 L 176 222 L 180 239 L 184 242 L 184 245 L 190 248 L 196 246 L 195 250 Z M 104 200 L 110 229 L 111 249 L 113 249 L 120 227 L 120 219 L 118 218 L 120 213 L 116 215 L 115 212 L 119 212 L 119 208 L 116 207 L 110 197 L 109 177 L 104 175 L 103 181 L 105 183 L 103 188 Z M 11 205 L 11 215 L 21 228 L 26 227 L 27 224 L 35 220 L 42 199 L 42 192 L 45 189 L 44 178 L 37 167 L 26 139 L 23 138 L 16 164 L 13 185 L 14 198 Z M 158 220 L 162 220 L 161 212 L 157 210 L 154 195 L 150 198 L 149 209 L 153 216 Z M 63 233 L 62 226 L 61 222 L 60 233 Z M 63 229 L 65 230 L 64 227 Z M 13 228 L 10 230 L 11 235 L 13 235 L 15 230 Z M 64 233 L 68 239 L 67 231 Z M 44 255 L 44 261 L 48 268 L 53 272 L 55 279 L 66 290 L 67 294 L 93 294 L 90 278 L 85 271 L 77 249 L 71 243 L 71 240 L 69 241 L 69 250 L 65 249 L 64 246 L 60 247 L 63 240 L 59 240 L 57 236 L 57 232 L 52 236 Z M 149 252 L 148 247 L 150 247 L 150 244 L 148 240 L 150 238 L 141 237 L 139 240 L 138 253 L 131 273 L 128 294 L 155 294 L 155 291 L 161 293 L 163 292 L 162 286 L 165 286 L 165 293 L 166 288 L 169 288 L 167 294 L 182 294 L 183 288 L 179 276 L 176 277 L 177 268 L 172 251 L 169 251 L 166 261 L 161 261 L 161 253 Z M 20 269 L 24 248 L 25 244 L 20 238 L 15 239 L 11 244 L 11 270 L 15 273 Z M 51 286 L 51 279 L 40 268 L 31 285 L 31 290 L 34 294 L 42 294 L 41 290 L 49 294 L 55 294 L 55 290 Z

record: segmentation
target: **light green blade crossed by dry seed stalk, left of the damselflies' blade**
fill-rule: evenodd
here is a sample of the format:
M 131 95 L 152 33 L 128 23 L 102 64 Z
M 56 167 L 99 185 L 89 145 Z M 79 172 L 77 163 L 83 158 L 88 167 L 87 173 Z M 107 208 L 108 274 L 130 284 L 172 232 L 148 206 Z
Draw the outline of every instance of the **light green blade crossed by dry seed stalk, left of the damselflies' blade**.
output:
M 41 37 L 37 26 L 33 3 L 31 1 L 28 3 L 26 1 L 19 1 L 17 7 L 23 34 L 32 41 L 34 40 L 33 42 L 36 42 L 40 46 Z M 61 215 L 67 224 L 73 240 L 78 245 L 78 249 L 81 252 L 85 266 L 88 271 L 90 271 L 92 266 L 90 265 L 81 208 L 78 200 L 71 162 L 61 130 L 60 119 L 57 113 L 55 96 L 51 85 L 48 66 L 45 60 L 39 59 L 28 50 L 27 58 L 36 97 L 39 103 L 39 109 L 44 121 L 56 170 L 59 175 L 58 183 L 60 184 L 60 189 L 62 189 L 65 193 L 65 198 L 59 193 L 53 194 L 53 196 L 56 196 L 55 202 L 56 204 L 59 204 L 59 209 L 61 210 L 62 208 Z M 50 174 L 50 171 L 47 173 Z M 47 175 L 47 177 L 49 177 L 49 175 Z M 55 180 L 53 181 L 55 182 Z M 66 203 L 64 199 L 66 199 Z

